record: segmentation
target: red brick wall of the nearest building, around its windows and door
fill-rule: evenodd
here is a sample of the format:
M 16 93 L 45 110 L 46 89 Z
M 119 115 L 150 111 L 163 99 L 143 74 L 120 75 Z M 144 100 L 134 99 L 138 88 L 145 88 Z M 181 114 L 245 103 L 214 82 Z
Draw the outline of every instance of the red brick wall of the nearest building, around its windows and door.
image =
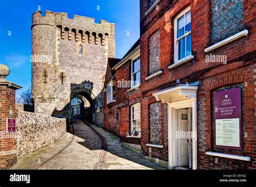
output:
M 218 3 L 217 1 L 212 2 Z M 206 62 L 207 53 L 204 52 L 204 49 L 212 45 L 211 20 L 213 18 L 211 18 L 211 3 L 209 1 L 163 0 L 158 4 L 159 9 L 153 9 L 147 16 L 145 16 L 145 13 L 143 12 L 146 0 L 140 1 L 140 59 L 142 76 L 140 90 L 142 93 L 142 150 L 145 155 L 168 160 L 167 141 L 166 149 L 164 145 L 163 149 L 154 148 L 151 153 L 149 153 L 149 147 L 146 146 L 146 143 L 149 143 L 150 141 L 149 107 L 151 103 L 156 102 L 152 93 L 177 85 L 177 79 L 179 79 L 181 83 L 199 81 L 200 84 L 197 92 L 198 168 L 255 169 L 256 139 L 254 113 L 256 105 L 254 97 L 255 80 L 253 81 L 253 77 L 255 77 L 256 71 L 253 71 L 253 67 L 255 67 L 256 59 L 256 23 L 254 21 L 256 6 L 252 1 L 243 1 L 242 3 L 239 3 L 241 1 L 236 1 L 234 4 L 232 3 L 233 1 L 229 2 L 231 2 L 228 4 L 228 7 L 230 8 L 225 9 L 225 11 L 238 11 L 238 16 L 234 17 L 235 24 L 234 27 L 232 27 L 232 32 L 237 32 L 238 28 L 241 30 L 247 29 L 249 31 L 249 35 L 232 41 L 230 44 L 221 46 L 210 52 L 212 55 L 226 55 L 227 63 L 224 64 L 222 62 Z M 194 56 L 194 59 L 173 69 L 168 69 L 174 59 L 173 20 L 188 6 L 191 6 L 191 40 L 192 55 Z M 239 13 L 241 6 L 243 10 L 242 18 L 241 13 Z M 232 13 L 229 15 L 227 14 L 227 16 L 231 15 Z M 241 23 L 241 19 L 243 23 Z M 223 23 L 226 22 L 223 21 Z M 219 29 L 227 34 L 225 37 L 228 37 L 232 33 L 225 32 L 225 28 L 228 27 L 226 24 L 223 25 L 225 27 L 221 27 Z M 241 26 L 241 24 L 243 24 L 243 26 Z M 160 69 L 163 70 L 163 74 L 146 81 L 145 77 L 148 76 L 148 71 L 150 69 L 148 41 L 151 35 L 158 30 L 160 33 Z M 221 39 L 218 38 L 218 40 Z M 218 157 L 219 163 L 215 164 L 213 163 L 213 161 L 215 161 L 215 157 L 206 156 L 205 154 L 205 152 L 213 150 L 211 93 L 223 87 L 227 88 L 230 87 L 230 85 L 245 83 L 247 84 L 247 87 L 244 87 L 245 111 L 242 118 L 245 124 L 244 131 L 250 135 L 243 140 L 244 152 L 242 155 L 250 156 L 252 161 L 240 162 L 237 160 L 232 161 L 230 159 L 220 159 L 220 157 Z M 165 111 L 166 110 L 161 111 L 161 113 L 163 113 L 163 117 L 161 118 L 163 119 L 163 122 L 165 121 L 165 123 L 162 124 L 163 140 L 167 137 L 167 130 L 164 128 L 164 124 L 167 123 L 167 119 L 165 119 Z

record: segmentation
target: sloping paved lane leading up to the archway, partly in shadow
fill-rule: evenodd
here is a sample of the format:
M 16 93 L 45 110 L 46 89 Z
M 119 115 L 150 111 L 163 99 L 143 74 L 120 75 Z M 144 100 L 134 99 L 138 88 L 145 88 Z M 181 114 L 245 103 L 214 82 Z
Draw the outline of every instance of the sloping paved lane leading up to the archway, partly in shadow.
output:
M 165 169 L 142 159 L 113 134 L 83 121 L 73 121 L 74 133 L 21 160 L 11 169 Z M 104 149 L 105 150 L 104 150 Z

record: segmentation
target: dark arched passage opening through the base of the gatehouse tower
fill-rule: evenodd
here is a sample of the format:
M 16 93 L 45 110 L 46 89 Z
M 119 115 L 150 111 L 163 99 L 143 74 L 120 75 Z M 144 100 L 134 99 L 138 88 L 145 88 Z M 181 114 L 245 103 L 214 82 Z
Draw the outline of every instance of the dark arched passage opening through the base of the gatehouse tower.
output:
M 72 91 L 69 103 L 70 118 L 92 121 L 92 110 L 95 106 L 95 97 L 87 89 Z

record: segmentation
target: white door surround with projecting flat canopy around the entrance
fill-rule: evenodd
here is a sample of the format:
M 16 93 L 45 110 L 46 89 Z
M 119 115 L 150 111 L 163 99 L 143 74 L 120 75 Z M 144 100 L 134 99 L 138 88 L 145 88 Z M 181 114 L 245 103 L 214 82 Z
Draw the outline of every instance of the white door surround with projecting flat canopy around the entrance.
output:
M 153 93 L 156 100 L 167 103 L 168 114 L 168 152 L 169 169 L 178 166 L 178 146 L 176 132 L 178 126 L 178 110 L 191 108 L 192 110 L 192 169 L 197 169 L 197 89 L 195 85 L 179 85 Z

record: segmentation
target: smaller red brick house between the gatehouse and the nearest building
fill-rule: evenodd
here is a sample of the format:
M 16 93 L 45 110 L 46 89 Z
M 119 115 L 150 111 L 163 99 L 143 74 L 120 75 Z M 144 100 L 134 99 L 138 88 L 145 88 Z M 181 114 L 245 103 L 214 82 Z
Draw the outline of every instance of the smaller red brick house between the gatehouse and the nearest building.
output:
M 140 150 L 139 42 L 123 59 L 109 60 L 104 90 L 104 127 Z

